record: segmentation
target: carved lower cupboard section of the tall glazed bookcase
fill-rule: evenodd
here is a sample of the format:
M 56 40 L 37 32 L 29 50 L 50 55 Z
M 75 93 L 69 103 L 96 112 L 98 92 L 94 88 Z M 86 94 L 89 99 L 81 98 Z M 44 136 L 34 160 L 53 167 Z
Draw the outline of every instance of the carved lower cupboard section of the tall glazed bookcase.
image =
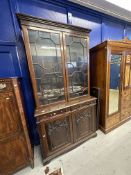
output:
M 44 164 L 96 136 L 96 98 L 70 104 L 68 112 L 51 114 L 36 116 Z

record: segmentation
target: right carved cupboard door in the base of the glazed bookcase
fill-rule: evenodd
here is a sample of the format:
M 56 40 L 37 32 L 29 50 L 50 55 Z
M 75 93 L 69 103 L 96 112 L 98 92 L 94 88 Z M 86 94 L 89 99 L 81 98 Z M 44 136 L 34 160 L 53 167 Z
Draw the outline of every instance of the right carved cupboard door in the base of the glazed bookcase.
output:
M 72 114 L 75 142 L 95 131 L 95 113 L 95 106 L 85 106 Z

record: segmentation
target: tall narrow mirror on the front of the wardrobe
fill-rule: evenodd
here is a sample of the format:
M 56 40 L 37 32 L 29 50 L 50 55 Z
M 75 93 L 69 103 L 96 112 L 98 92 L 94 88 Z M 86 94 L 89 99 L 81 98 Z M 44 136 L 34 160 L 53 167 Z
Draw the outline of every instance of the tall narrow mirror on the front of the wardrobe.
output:
M 120 64 L 121 55 L 111 55 L 110 63 L 110 90 L 109 90 L 109 115 L 119 110 L 120 91 Z

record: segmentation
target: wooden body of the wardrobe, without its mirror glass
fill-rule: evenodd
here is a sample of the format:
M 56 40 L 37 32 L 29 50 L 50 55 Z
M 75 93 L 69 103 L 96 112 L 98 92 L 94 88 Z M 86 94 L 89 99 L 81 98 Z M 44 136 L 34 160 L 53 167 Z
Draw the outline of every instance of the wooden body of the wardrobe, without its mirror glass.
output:
M 125 88 L 125 59 L 130 54 L 131 41 L 105 41 L 90 50 L 91 87 L 100 88 L 100 121 L 105 133 L 131 118 L 131 87 Z M 111 53 L 121 54 L 121 79 L 118 112 L 109 115 L 109 84 Z M 131 69 L 130 69 L 131 72 Z

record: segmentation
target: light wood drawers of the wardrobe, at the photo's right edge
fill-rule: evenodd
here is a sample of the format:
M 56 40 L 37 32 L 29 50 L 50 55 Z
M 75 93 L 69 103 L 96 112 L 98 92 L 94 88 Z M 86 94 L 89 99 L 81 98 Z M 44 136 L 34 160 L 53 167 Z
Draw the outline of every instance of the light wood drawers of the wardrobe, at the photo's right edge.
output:
M 131 117 L 131 88 L 122 92 L 121 120 Z

